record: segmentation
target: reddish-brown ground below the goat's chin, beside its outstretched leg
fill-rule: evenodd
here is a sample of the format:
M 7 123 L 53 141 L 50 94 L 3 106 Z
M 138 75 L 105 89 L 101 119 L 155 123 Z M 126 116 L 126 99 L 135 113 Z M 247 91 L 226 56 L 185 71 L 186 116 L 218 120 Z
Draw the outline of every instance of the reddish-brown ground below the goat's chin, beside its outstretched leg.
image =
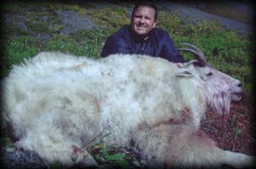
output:
M 206 118 L 201 121 L 201 128 L 222 149 L 256 155 L 253 107 L 243 100 L 231 104 L 230 109 L 229 115 L 217 115 L 208 110 Z

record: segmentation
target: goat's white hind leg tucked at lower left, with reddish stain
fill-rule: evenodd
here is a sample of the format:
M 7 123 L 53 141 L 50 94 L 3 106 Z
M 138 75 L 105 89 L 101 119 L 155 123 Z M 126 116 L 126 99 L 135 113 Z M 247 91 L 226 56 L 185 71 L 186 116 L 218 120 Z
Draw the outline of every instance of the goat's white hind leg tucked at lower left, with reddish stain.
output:
M 45 131 L 44 131 L 45 132 Z M 16 142 L 17 147 L 30 149 L 38 153 L 49 163 L 61 162 L 63 165 L 96 166 L 96 161 L 76 142 L 68 141 L 62 137 L 58 130 L 52 134 L 50 131 L 44 134 L 38 130 L 27 132 L 26 136 Z

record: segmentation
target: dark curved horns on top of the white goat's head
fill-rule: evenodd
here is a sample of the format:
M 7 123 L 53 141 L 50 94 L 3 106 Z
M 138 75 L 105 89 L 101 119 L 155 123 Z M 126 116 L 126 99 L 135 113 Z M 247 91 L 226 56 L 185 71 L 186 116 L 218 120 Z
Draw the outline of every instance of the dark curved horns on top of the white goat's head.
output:
M 206 66 L 208 65 L 207 60 L 205 58 L 205 55 L 201 52 L 201 50 L 197 47 L 195 47 L 194 45 L 188 43 L 188 42 L 182 42 L 181 44 L 183 45 L 187 45 L 190 48 L 177 48 L 178 50 L 184 50 L 184 51 L 188 51 L 192 54 L 195 54 L 196 59 L 199 61 L 199 64 L 201 66 Z

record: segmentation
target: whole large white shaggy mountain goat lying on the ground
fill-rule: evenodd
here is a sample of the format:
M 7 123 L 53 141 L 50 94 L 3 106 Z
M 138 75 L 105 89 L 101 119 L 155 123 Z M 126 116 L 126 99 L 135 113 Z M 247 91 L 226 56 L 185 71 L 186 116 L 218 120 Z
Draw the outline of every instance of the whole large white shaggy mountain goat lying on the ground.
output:
M 96 165 L 82 147 L 101 133 L 110 133 L 102 140 L 110 146 L 132 143 L 152 167 L 251 165 L 253 157 L 219 149 L 200 130 L 207 106 L 226 114 L 241 99 L 241 82 L 184 44 L 196 59 L 182 68 L 137 54 L 94 60 L 40 53 L 4 80 L 3 120 L 17 146 L 69 166 Z

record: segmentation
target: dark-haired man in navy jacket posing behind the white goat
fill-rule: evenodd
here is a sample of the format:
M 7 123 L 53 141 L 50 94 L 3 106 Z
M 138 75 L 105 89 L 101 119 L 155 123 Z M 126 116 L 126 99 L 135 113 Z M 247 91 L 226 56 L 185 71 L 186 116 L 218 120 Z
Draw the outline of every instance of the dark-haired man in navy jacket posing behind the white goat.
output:
M 177 63 L 184 62 L 172 38 L 166 31 L 156 28 L 157 7 L 154 3 L 137 3 L 131 14 L 131 24 L 108 37 L 102 57 L 109 54 L 147 54 Z

